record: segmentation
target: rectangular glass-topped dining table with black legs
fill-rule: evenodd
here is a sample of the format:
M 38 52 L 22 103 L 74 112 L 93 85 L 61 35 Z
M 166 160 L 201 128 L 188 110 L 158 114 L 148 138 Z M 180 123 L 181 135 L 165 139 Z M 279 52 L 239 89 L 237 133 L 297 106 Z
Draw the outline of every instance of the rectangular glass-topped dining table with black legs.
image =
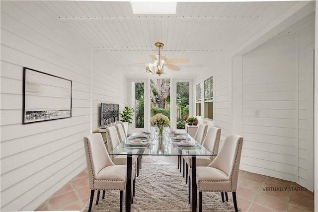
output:
M 127 155 L 127 181 L 126 181 L 126 196 L 125 196 L 125 208 L 126 212 L 131 211 L 131 200 L 132 200 L 132 157 L 138 155 L 141 158 L 143 155 L 175 155 L 181 156 L 188 155 L 192 158 L 192 178 L 191 178 L 191 211 L 197 211 L 197 184 L 196 184 L 196 156 L 197 155 L 216 155 L 209 149 L 205 148 L 199 142 L 195 141 L 190 135 L 185 132 L 179 132 L 179 135 L 183 136 L 187 140 L 186 144 L 182 144 L 178 140 L 176 134 L 165 133 L 162 137 L 156 136 L 153 141 L 147 139 L 141 139 L 140 143 L 134 142 L 138 139 L 138 134 L 133 134 L 128 137 L 125 141 L 121 142 L 112 151 L 110 155 Z M 147 135 L 147 134 L 146 134 Z M 190 143 L 190 144 L 189 144 Z M 140 160 L 141 162 L 141 160 Z M 141 165 L 141 163 L 140 163 Z M 180 164 L 181 166 L 181 164 Z M 187 176 L 186 176 L 187 177 Z

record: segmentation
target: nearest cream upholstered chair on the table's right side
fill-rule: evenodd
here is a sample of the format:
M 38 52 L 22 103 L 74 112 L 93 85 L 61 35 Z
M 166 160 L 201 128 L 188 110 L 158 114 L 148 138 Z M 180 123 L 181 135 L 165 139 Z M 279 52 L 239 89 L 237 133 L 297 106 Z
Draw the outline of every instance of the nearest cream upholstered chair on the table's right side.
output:
M 236 191 L 239 178 L 239 161 L 243 138 L 232 135 L 226 138 L 219 154 L 208 166 L 196 167 L 196 184 L 199 190 L 199 211 L 202 212 L 202 192 L 232 192 L 235 211 L 238 212 Z M 189 169 L 189 196 L 192 168 Z M 190 198 L 190 197 L 189 197 Z M 228 198 L 227 198 L 228 201 Z

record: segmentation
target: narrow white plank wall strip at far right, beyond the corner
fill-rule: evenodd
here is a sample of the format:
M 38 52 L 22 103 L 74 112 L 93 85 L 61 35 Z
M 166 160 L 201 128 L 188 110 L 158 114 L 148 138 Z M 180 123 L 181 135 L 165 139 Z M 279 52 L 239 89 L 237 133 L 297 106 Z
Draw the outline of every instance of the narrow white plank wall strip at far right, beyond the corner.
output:
M 314 172 L 308 172 L 313 167 L 311 161 L 314 160 L 312 126 L 314 114 L 308 110 L 313 107 L 313 70 L 308 67 L 308 46 L 315 43 L 315 16 L 311 15 L 304 24 L 298 28 L 298 183 L 306 188 L 310 188 L 314 180 Z M 311 89 L 311 90 L 310 90 Z

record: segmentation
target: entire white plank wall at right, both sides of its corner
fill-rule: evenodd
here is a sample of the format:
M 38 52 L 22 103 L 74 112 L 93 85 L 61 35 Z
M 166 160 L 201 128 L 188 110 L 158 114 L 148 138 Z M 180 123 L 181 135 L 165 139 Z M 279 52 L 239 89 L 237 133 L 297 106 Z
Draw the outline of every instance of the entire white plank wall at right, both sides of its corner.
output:
M 311 186 L 308 46 L 314 42 L 312 14 L 243 56 L 241 169 Z

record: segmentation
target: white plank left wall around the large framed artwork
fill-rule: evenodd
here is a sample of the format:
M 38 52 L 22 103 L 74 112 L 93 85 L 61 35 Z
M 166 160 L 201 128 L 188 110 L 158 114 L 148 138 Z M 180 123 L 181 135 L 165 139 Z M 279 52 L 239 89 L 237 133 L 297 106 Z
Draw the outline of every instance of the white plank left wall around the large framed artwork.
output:
M 89 46 L 45 6 L 1 1 L 0 211 L 33 211 L 86 167 L 89 64 Z M 72 80 L 72 118 L 21 124 L 23 67 Z

